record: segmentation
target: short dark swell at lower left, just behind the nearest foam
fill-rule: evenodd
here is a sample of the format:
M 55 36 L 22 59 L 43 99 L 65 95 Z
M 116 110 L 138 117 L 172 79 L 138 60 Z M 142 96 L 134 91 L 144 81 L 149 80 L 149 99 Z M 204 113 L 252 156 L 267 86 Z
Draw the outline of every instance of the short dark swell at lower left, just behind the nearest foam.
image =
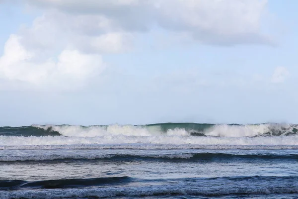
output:
M 92 178 L 92 179 L 60 179 L 46 181 L 21 181 L 21 180 L 0 180 L 0 190 L 15 190 L 21 188 L 38 189 L 63 189 L 79 188 L 102 185 L 118 185 L 131 182 L 133 179 L 127 176 L 110 178 Z

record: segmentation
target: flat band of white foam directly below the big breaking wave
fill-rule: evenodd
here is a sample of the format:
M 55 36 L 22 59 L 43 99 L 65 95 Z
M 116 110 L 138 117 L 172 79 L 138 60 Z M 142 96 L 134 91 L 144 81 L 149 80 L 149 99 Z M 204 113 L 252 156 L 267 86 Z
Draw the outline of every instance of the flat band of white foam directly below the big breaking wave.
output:
M 268 137 L 195 137 L 178 135 L 125 136 L 106 135 L 97 137 L 22 137 L 0 136 L 0 146 L 30 145 L 100 145 L 100 144 L 161 144 L 161 145 L 235 145 L 235 146 L 289 146 L 298 145 L 298 135 Z

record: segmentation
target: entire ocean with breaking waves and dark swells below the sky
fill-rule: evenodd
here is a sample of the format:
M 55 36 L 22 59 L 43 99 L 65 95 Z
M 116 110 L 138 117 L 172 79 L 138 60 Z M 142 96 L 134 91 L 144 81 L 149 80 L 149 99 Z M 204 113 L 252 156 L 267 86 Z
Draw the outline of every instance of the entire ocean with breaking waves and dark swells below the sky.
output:
M 0 199 L 298 199 L 298 125 L 0 127 Z

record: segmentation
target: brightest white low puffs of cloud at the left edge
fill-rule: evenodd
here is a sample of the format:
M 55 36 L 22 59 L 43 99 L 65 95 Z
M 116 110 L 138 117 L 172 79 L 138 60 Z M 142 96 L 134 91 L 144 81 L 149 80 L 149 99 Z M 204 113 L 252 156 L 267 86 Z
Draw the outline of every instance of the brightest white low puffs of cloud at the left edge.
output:
M 57 58 L 40 62 L 35 59 L 38 54 L 27 51 L 20 39 L 11 35 L 5 44 L 0 57 L 0 77 L 4 80 L 29 83 L 32 88 L 74 89 L 105 67 L 100 55 L 68 49 Z

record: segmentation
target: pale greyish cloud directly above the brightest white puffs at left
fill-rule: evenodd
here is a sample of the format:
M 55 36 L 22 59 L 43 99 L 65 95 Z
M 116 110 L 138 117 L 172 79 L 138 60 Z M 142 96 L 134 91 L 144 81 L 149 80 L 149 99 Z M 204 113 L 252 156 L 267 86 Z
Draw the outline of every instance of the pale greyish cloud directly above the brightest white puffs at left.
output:
M 65 46 L 88 53 L 118 53 L 132 45 L 131 34 L 113 30 L 107 18 L 47 11 L 22 28 L 22 44 L 31 50 L 56 51 Z

